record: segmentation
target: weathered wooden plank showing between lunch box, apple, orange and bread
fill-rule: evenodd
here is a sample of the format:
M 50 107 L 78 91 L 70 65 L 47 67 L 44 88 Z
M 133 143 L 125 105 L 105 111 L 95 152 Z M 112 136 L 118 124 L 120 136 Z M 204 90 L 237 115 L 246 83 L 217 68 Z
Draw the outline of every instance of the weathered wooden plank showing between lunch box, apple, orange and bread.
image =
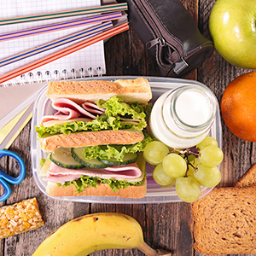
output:
M 212 4 L 207 2 L 201 3 L 201 24 L 206 24 Z M 203 26 L 204 33 L 209 35 L 207 26 Z M 217 96 L 220 104 L 224 90 L 233 79 L 236 79 L 242 73 L 250 70 L 234 67 L 225 61 L 215 49 L 207 58 L 203 65 L 198 69 L 198 80 L 206 84 Z M 223 178 L 219 186 L 232 186 L 241 174 L 246 172 L 252 165 L 251 154 L 253 143 L 246 143 L 236 137 L 222 119 L 223 129 L 223 151 L 224 161 L 222 164 Z M 237 150 L 239 148 L 239 150 Z

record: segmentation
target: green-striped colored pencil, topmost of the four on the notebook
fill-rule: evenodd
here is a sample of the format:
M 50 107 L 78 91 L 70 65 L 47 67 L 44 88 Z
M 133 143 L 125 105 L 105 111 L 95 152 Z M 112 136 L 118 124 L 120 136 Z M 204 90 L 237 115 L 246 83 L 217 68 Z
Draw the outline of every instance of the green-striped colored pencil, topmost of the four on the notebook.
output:
M 127 3 L 117 3 L 117 4 L 108 4 L 97 7 L 90 7 L 85 9 L 73 9 L 73 10 L 65 10 L 54 13 L 40 14 L 40 15 L 29 15 L 29 16 L 20 16 L 14 18 L 6 18 L 0 20 L 0 26 L 2 25 L 10 25 L 15 23 L 23 23 L 30 21 L 38 21 L 38 20 L 50 20 L 56 18 L 65 18 L 65 17 L 73 17 L 78 15 L 94 15 L 97 13 L 110 13 L 117 12 L 128 9 Z

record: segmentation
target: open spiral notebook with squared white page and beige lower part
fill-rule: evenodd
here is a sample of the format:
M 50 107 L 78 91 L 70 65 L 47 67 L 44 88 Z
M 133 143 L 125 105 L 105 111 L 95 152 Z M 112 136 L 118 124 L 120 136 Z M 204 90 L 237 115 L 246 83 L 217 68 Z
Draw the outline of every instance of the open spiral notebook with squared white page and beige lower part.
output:
M 83 9 L 99 5 L 101 5 L 100 0 L 1 0 L 0 14 L 3 19 L 62 10 Z M 73 18 L 40 20 L 0 26 L 0 33 L 16 32 L 26 28 L 44 26 L 65 20 L 73 20 Z M 48 32 L 32 37 L 2 42 L 0 43 L 0 60 L 27 49 L 32 49 L 38 45 L 46 44 L 55 39 L 73 34 L 74 32 L 79 32 L 85 27 L 86 26 L 68 28 L 57 32 Z M 1 67 L 0 75 L 15 70 L 17 67 L 22 67 L 32 61 L 41 59 L 45 55 L 54 53 L 59 49 L 64 49 L 70 44 L 73 43 L 59 46 L 57 49 L 49 49 L 46 52 Z M 81 72 L 81 70 L 83 70 L 83 72 Z M 104 74 L 105 71 L 104 45 L 103 42 L 99 42 L 84 49 L 79 49 L 77 52 L 64 56 L 56 61 L 52 61 L 38 69 L 34 69 L 30 73 L 25 73 L 22 77 L 17 77 L 9 80 L 5 84 L 0 84 L 0 128 L 3 127 L 3 125 L 6 125 L 15 117 L 15 115 L 27 108 L 27 106 L 35 100 L 38 90 L 45 84 L 45 82 L 42 83 L 42 81 L 79 78 L 82 76 L 97 76 L 99 74 Z

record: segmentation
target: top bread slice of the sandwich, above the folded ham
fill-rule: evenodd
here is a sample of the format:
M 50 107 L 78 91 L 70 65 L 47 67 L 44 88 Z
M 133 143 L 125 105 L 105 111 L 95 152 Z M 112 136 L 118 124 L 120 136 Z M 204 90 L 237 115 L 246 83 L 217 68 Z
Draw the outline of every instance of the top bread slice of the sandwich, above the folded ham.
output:
M 107 100 L 111 96 L 120 96 L 124 102 L 148 103 L 152 98 L 147 79 L 118 79 L 114 82 L 91 81 L 53 81 L 49 82 L 46 96 L 51 101 L 68 98 L 78 104 L 84 101 Z

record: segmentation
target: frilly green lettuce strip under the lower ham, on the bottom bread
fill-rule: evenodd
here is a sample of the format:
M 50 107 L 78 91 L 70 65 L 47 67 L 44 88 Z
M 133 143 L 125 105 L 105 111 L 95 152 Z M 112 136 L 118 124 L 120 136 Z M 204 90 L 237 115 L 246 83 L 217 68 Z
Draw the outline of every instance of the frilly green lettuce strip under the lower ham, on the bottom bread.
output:
M 82 176 L 82 177 L 79 177 L 79 179 L 77 179 L 77 180 L 66 182 L 64 184 L 57 183 L 57 185 L 59 187 L 62 186 L 65 189 L 67 187 L 70 187 L 71 184 L 73 183 L 73 185 L 77 189 L 76 193 L 80 194 L 87 187 L 97 188 L 98 183 L 106 183 L 113 190 L 113 192 L 117 192 L 119 189 L 129 188 L 131 185 L 138 186 L 144 182 L 145 178 L 146 178 L 146 175 L 144 176 L 143 180 L 140 182 L 128 183 L 123 180 L 115 180 L 113 178 L 107 179 L 107 178 L 100 178 L 100 177 Z

